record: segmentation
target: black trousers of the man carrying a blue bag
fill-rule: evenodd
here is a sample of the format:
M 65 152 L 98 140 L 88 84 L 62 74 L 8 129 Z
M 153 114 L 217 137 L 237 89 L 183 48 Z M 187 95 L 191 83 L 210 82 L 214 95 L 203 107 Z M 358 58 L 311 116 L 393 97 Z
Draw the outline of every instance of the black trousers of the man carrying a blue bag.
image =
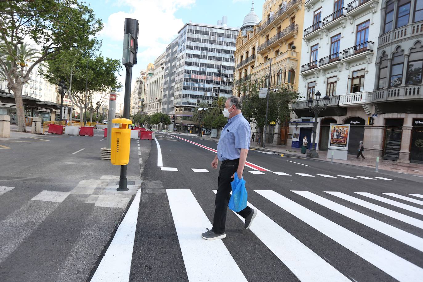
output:
M 216 234 L 225 232 L 226 212 L 232 191 L 231 182 L 233 178 L 231 176 L 238 169 L 238 164 L 239 159 L 236 159 L 223 161 L 220 165 L 216 200 L 214 201 L 216 208 L 214 209 L 213 228 L 211 228 L 211 231 Z M 237 214 L 246 218 L 252 211 L 253 209 L 247 206 Z

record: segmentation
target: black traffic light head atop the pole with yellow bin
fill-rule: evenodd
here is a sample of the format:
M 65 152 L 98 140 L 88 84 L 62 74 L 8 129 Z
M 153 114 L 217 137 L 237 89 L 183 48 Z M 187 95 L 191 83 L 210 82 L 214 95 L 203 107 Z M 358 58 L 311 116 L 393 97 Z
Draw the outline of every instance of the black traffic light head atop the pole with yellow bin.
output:
M 137 64 L 138 28 L 140 22 L 136 19 L 125 19 L 124 48 L 122 64 L 134 66 Z

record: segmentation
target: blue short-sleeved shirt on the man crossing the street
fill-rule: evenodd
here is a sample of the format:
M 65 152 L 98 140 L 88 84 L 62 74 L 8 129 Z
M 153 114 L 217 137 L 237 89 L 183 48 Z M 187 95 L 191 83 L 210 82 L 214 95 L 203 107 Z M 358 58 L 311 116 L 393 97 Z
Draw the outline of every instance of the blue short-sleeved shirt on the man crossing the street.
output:
M 224 160 L 239 159 L 241 149 L 250 148 L 250 123 L 242 113 L 228 119 L 220 134 L 217 144 L 217 158 L 220 162 Z

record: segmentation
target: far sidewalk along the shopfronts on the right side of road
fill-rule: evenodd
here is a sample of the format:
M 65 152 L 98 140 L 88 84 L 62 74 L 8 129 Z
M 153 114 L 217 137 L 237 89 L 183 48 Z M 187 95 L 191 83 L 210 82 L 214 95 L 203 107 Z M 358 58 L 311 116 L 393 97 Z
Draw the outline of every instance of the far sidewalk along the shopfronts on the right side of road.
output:
M 197 136 L 196 134 L 189 134 L 189 133 L 178 133 L 182 135 L 187 136 Z M 199 137 L 206 140 L 214 140 L 218 141 L 218 138 L 211 138 L 209 136 L 202 136 Z M 299 158 L 307 158 L 306 154 L 301 153 L 300 148 L 292 148 L 285 145 L 275 145 L 275 144 L 268 144 L 266 143 L 266 149 L 263 149 L 263 147 L 258 146 L 257 142 L 252 142 L 250 145 L 250 149 L 258 149 L 258 150 L 266 150 L 271 151 L 275 153 L 280 154 L 288 154 L 290 156 L 295 156 Z M 319 153 L 319 160 L 330 162 L 330 158 L 327 158 L 327 152 L 326 151 L 317 151 Z M 341 163 L 341 164 L 351 164 L 351 165 L 357 165 L 360 167 L 368 167 L 369 170 L 374 170 L 376 167 L 376 157 L 374 156 L 366 156 L 364 152 L 365 159 L 356 159 L 353 155 L 348 155 L 347 160 L 338 160 L 334 159 L 333 162 L 335 163 Z M 379 158 L 379 170 L 389 170 L 389 171 L 395 171 L 400 173 L 407 173 L 411 175 L 416 176 L 423 176 L 423 164 L 402 164 L 395 161 L 389 161 L 389 160 L 383 160 L 382 158 Z

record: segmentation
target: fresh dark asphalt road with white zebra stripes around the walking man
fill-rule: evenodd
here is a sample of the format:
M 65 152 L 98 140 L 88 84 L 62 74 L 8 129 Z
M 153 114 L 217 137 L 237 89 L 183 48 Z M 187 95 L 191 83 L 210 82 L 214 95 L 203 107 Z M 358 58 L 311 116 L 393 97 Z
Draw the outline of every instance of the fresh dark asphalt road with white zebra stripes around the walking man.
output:
M 260 213 L 244 230 L 228 211 L 227 237 L 206 241 L 218 171 L 191 142 L 217 141 L 156 137 L 163 164 L 153 144 L 130 281 L 421 281 L 423 200 L 409 194 L 423 197 L 422 178 L 253 150 L 244 179 Z

